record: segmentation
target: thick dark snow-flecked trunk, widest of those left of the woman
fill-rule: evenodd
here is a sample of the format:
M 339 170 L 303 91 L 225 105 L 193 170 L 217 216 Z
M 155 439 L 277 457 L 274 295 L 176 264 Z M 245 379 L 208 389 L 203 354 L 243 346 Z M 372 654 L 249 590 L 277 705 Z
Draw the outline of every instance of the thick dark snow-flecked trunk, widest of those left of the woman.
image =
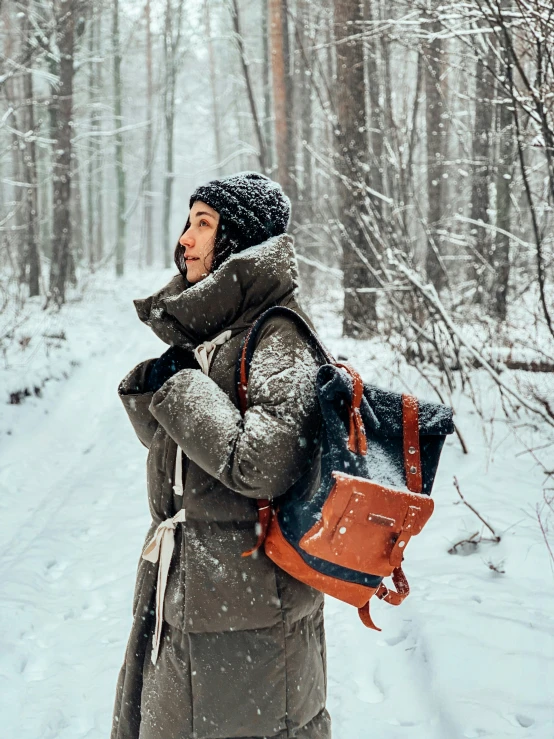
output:
M 49 300 L 57 305 L 65 302 L 65 288 L 71 250 L 71 136 L 73 117 L 73 59 L 75 51 L 74 3 L 61 4 L 58 16 L 57 43 L 60 51 L 59 86 L 53 92 L 55 120 L 53 182 L 52 258 L 50 263 Z

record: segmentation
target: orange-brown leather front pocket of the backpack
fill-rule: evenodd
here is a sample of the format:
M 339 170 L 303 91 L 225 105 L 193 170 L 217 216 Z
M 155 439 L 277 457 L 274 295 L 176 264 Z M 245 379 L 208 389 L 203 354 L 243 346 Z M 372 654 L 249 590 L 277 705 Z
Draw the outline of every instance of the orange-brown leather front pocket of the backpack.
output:
M 400 566 L 410 538 L 429 520 L 432 499 L 341 472 L 333 477 L 321 519 L 300 547 L 342 567 L 387 577 Z

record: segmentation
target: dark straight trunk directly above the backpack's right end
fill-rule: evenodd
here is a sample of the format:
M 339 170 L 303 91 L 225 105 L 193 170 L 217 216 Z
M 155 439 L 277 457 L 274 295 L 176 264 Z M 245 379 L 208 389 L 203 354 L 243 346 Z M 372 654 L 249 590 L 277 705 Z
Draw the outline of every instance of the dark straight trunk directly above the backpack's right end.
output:
M 445 284 L 441 260 L 441 242 L 438 230 L 442 216 L 444 172 L 444 125 L 442 122 L 443 94 L 441 83 L 442 41 L 438 38 L 440 22 L 429 16 L 426 26 L 430 40 L 424 46 L 425 54 L 425 123 L 427 130 L 427 277 L 437 290 Z

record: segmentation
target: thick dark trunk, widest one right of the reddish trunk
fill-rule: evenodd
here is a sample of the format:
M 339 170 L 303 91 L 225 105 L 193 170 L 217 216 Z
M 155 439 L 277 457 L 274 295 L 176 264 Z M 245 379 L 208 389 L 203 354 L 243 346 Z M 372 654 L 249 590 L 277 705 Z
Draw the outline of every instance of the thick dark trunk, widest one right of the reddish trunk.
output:
M 367 115 L 364 84 L 364 49 L 359 38 L 363 10 L 361 0 L 336 0 L 335 41 L 337 55 L 336 101 L 338 133 L 336 166 L 339 183 L 339 219 L 343 226 L 343 285 L 345 336 L 367 336 L 377 318 L 375 293 L 359 292 L 374 286 L 366 264 L 374 263 L 361 225 L 367 208 Z

